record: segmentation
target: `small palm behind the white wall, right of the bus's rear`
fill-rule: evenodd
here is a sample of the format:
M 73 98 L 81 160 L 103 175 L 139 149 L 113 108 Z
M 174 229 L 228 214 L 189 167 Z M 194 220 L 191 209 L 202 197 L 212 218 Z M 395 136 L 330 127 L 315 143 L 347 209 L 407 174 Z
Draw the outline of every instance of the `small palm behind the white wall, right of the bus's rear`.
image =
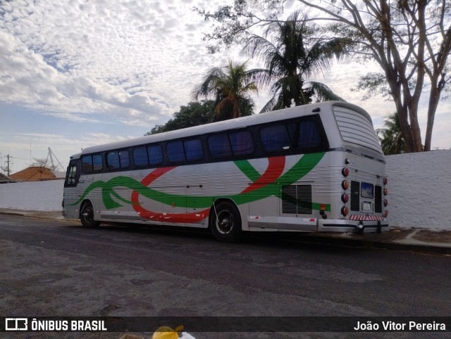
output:
M 383 128 L 376 129 L 385 155 L 408 153 L 407 143 L 401 132 L 400 119 L 393 113 L 384 119 Z

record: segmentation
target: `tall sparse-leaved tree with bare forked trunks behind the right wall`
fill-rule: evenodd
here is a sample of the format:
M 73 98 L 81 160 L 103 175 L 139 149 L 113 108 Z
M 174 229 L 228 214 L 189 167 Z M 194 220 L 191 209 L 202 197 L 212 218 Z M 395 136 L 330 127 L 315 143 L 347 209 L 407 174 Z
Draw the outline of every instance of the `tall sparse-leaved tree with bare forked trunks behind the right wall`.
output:
M 411 152 L 422 151 L 419 105 L 428 96 L 424 151 L 430 151 L 435 112 L 440 96 L 450 81 L 450 0 L 298 0 L 306 11 L 316 11 L 312 20 L 321 21 L 336 37 L 353 39 L 354 55 L 375 60 L 380 72 L 360 79 L 369 94 L 384 92 L 393 100 L 402 134 Z M 259 16 L 256 5 L 283 11 L 285 0 L 240 0 L 218 11 L 198 10 L 206 20 L 222 23 L 207 39 L 230 46 L 242 39 L 249 27 L 273 22 L 273 15 Z M 249 9 L 250 8 L 250 9 Z M 217 49 L 218 45 L 211 47 Z

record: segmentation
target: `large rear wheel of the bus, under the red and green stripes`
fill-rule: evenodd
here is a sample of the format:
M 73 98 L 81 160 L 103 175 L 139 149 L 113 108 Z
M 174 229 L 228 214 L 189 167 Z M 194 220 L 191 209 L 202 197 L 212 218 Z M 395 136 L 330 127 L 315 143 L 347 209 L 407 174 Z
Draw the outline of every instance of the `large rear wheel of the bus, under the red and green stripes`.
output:
M 214 205 L 210 218 L 210 228 L 216 240 L 223 243 L 238 241 L 242 235 L 241 215 L 236 205 L 223 201 Z

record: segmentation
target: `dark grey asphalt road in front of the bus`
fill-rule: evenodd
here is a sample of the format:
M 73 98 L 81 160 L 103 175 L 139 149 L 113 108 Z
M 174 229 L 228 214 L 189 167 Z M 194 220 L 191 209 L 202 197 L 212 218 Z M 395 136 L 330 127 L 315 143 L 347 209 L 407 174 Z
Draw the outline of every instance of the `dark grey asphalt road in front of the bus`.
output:
M 302 237 L 291 235 L 224 244 L 203 232 L 116 225 L 84 229 L 78 222 L 0 215 L 0 258 L 1 316 L 451 314 L 449 255 L 302 243 Z M 190 333 L 197 339 L 343 335 Z M 7 334 L 0 336 L 121 336 Z M 396 333 L 412 335 L 438 336 Z

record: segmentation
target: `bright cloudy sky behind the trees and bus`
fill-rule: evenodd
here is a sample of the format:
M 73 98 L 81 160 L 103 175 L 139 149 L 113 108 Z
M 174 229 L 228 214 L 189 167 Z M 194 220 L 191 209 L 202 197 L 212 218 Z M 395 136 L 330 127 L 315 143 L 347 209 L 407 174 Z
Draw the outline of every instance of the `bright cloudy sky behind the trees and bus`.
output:
M 50 147 L 66 167 L 81 148 L 142 136 L 165 123 L 191 101 L 206 70 L 228 58 L 246 60 L 239 47 L 206 51 L 202 32 L 211 23 L 192 8 L 218 4 L 223 1 L 0 1 L 1 165 L 9 154 L 11 172 L 18 172 L 30 158 L 47 158 Z M 362 72 L 347 60 L 319 81 L 362 105 L 381 127 L 393 105 L 362 101 L 350 91 Z M 257 109 L 267 99 L 261 91 Z M 450 108 L 449 101 L 440 104 L 433 148 L 451 147 Z

